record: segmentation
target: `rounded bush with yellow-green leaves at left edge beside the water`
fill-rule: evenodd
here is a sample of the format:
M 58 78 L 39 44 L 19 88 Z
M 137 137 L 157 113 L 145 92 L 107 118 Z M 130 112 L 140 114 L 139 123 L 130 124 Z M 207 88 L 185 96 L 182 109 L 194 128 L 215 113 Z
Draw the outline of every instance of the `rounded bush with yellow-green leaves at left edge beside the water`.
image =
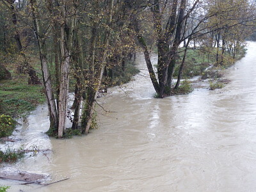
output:
M 0 138 L 10 136 L 15 128 L 16 122 L 9 115 L 0 115 Z

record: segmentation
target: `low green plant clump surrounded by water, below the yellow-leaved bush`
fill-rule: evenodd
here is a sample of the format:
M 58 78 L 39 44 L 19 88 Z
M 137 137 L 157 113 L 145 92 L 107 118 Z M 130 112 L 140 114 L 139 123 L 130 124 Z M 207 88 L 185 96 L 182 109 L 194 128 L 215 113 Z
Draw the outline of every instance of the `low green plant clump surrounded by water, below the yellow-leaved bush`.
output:
M 0 150 L 0 163 L 15 162 L 22 157 L 24 157 L 23 150 L 13 150 L 11 148 L 7 148 L 5 152 Z

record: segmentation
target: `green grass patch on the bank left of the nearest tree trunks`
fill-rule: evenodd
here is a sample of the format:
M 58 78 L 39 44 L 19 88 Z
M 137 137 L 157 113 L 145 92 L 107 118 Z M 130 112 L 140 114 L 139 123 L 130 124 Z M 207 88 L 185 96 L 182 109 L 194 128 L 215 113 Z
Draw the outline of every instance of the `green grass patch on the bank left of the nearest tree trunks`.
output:
M 45 102 L 43 88 L 24 77 L 0 81 L 0 114 L 19 116 Z

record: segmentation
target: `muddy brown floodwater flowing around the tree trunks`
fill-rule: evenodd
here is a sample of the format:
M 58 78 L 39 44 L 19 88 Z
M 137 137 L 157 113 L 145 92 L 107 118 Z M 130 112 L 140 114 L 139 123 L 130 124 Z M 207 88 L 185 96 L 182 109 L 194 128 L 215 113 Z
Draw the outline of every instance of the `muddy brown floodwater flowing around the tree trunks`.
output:
M 46 106 L 10 147 L 50 148 L 13 166 L 51 175 L 49 186 L 1 180 L 10 191 L 256 191 L 256 43 L 227 70 L 225 88 L 154 99 L 146 70 L 99 99 L 99 129 L 48 138 Z M 137 63 L 145 68 L 143 57 Z

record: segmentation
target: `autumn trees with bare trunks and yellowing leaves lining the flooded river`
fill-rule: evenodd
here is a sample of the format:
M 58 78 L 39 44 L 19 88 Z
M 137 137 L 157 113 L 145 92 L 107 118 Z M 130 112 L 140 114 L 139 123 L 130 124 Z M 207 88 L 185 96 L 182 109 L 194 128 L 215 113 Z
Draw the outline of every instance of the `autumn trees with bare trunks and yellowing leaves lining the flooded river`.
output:
M 40 79 L 28 58 L 28 52 L 36 50 L 49 108 L 49 131 L 59 138 L 65 130 L 71 76 L 76 79 L 72 129 L 78 129 L 81 122 L 83 132 L 88 133 L 102 81 L 111 81 L 116 66 L 125 71 L 125 61 L 132 58 L 136 45 L 144 53 L 150 79 L 162 98 L 179 88 L 191 42 L 216 49 L 216 63 L 223 65 L 226 52 L 236 57 L 255 21 L 255 4 L 250 0 L 1 0 L 0 6 L 1 52 L 13 46 L 9 43 L 13 37 L 15 52 L 22 59 L 19 71 L 27 72 L 29 82 L 36 84 Z M 173 86 L 182 43 L 184 58 Z M 157 47 L 156 70 L 150 60 L 152 47 Z

